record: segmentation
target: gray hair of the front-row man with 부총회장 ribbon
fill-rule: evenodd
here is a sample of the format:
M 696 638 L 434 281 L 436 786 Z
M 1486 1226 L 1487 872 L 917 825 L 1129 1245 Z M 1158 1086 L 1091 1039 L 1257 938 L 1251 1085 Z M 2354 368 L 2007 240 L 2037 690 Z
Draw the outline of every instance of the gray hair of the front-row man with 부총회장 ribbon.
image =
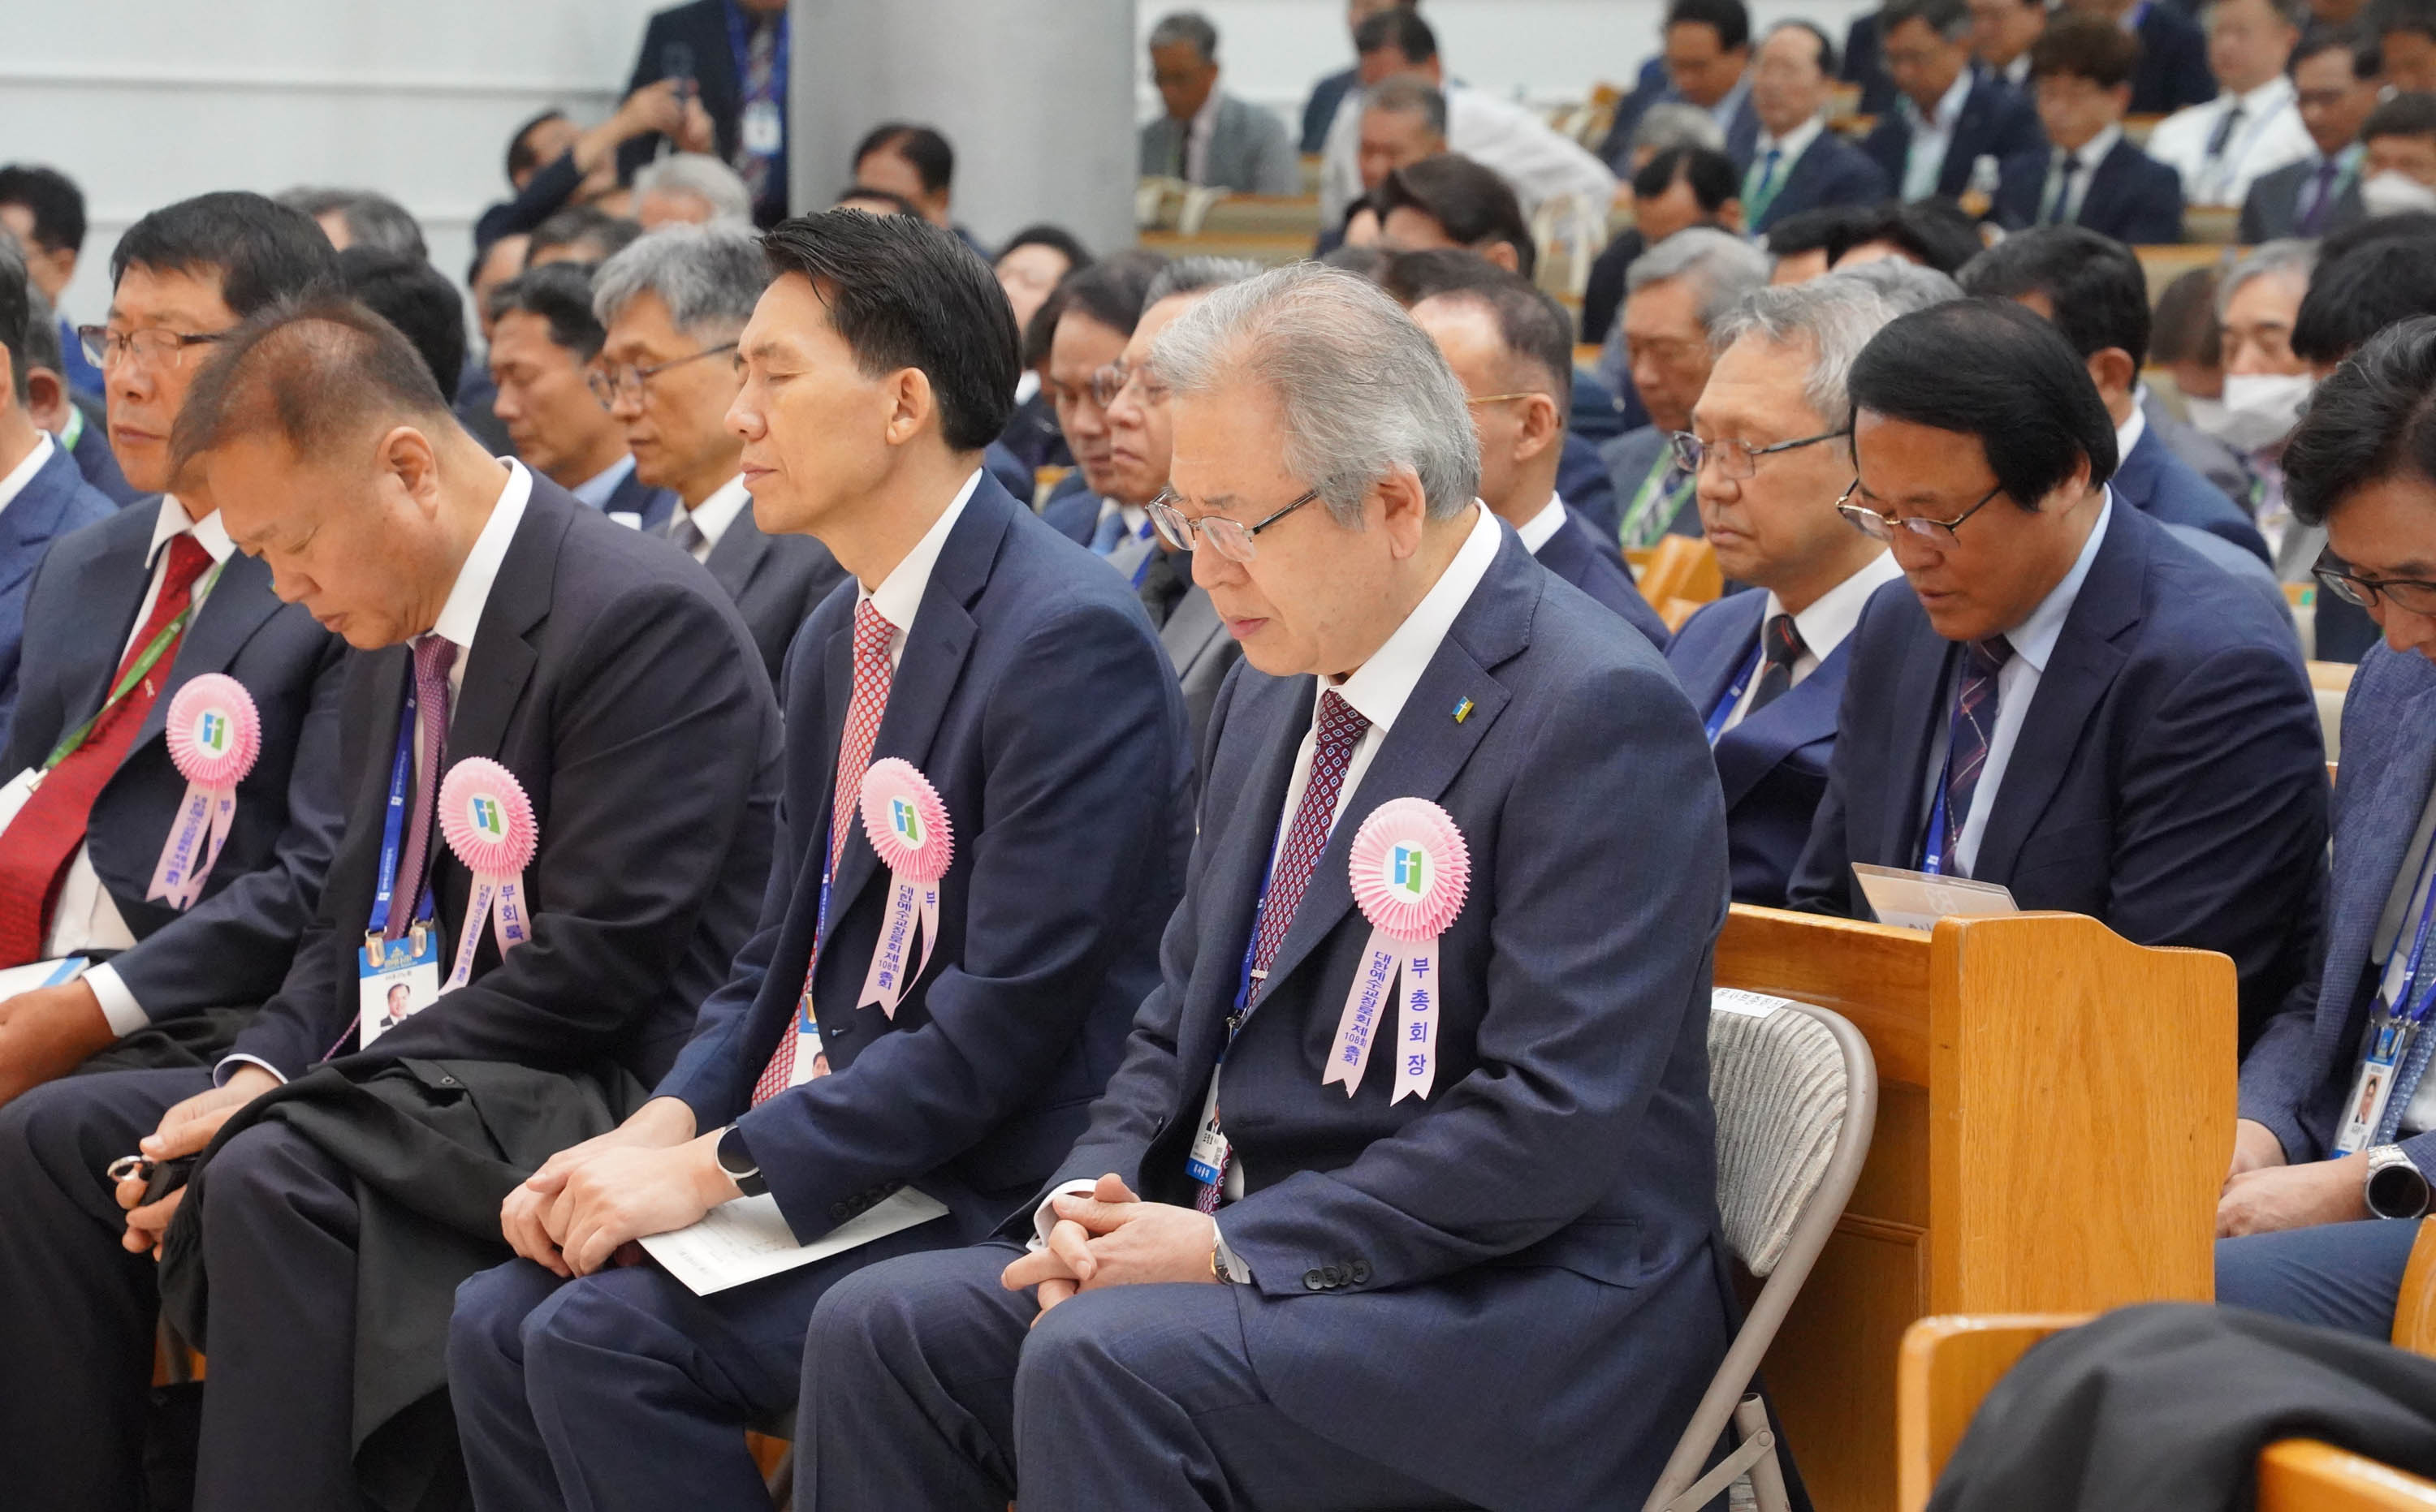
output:
M 1398 470 L 1420 477 L 1430 519 L 1462 514 L 1481 487 L 1481 441 L 1464 385 L 1386 290 L 1320 263 L 1228 285 L 1160 331 L 1152 360 L 1179 394 L 1245 377 L 1286 419 L 1281 458 L 1342 526 Z

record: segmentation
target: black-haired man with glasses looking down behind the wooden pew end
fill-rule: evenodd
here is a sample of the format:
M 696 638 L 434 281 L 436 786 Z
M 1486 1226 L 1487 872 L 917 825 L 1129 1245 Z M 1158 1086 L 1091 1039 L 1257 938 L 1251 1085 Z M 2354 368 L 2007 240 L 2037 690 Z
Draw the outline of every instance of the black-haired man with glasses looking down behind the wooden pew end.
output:
M 1837 506 L 1905 584 L 1851 640 L 1790 906 L 1866 918 L 1854 862 L 1971 877 L 2136 945 L 2222 950 L 2241 1042 L 2307 974 L 2326 767 L 2292 633 L 2119 506 L 2088 368 L 2012 302 L 1907 314 L 1851 365 Z

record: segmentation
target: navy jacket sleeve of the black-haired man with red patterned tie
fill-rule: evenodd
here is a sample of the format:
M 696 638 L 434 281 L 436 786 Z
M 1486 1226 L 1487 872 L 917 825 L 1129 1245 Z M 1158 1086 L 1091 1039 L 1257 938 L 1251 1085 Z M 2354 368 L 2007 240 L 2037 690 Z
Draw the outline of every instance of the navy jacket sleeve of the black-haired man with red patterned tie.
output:
M 797 1234 L 833 1227 L 853 1193 L 955 1159 L 1038 1096 L 1091 1013 L 1140 847 L 1169 830 L 1184 711 L 1138 614 L 1086 604 L 1040 623 L 982 721 L 982 811 L 960 816 L 979 823 L 965 942 L 923 991 L 928 1023 L 736 1125 Z

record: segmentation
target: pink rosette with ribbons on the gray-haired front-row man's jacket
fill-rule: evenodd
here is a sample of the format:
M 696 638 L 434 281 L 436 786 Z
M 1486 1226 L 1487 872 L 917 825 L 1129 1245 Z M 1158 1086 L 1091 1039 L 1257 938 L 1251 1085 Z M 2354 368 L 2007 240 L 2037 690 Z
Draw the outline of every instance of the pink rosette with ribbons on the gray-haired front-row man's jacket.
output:
M 1350 859 L 1354 903 L 1371 920 L 1371 937 L 1345 996 L 1320 1086 L 1342 1081 L 1347 1098 L 1362 1086 L 1393 986 L 1403 1032 L 1396 1040 L 1396 1096 L 1389 1103 L 1427 1098 L 1437 1081 L 1437 937 L 1464 911 L 1471 850 L 1437 803 L 1389 799 L 1354 830 Z

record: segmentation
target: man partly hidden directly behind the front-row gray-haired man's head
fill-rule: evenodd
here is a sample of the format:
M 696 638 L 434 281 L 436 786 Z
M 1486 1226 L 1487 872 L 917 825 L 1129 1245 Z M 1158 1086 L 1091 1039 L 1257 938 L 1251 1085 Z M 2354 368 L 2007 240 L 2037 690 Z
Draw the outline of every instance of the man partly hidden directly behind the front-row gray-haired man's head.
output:
M 1542 567 L 1666 650 L 1666 621 L 1632 587 L 1615 538 L 1557 489 L 1564 392 L 1574 365 L 1564 307 L 1520 275 L 1484 268 L 1479 280 L 1415 304 L 1413 319 L 1464 385 L 1481 438 L 1479 499 L 1488 514 L 1510 523 Z

